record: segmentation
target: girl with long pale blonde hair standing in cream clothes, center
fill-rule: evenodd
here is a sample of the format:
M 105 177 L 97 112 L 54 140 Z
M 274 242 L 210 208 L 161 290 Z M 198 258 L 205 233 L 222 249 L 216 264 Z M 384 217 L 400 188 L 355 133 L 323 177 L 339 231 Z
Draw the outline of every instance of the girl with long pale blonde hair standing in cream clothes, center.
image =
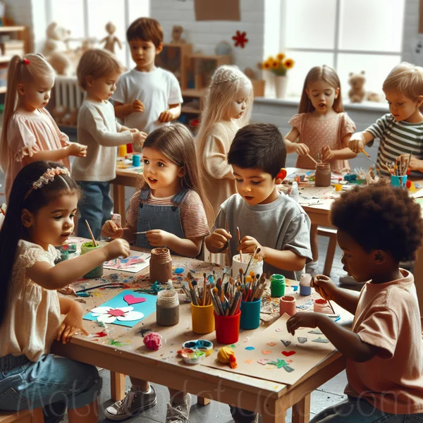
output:
M 226 159 L 235 133 L 250 122 L 253 97 L 251 81 L 237 66 L 216 69 L 196 139 L 204 188 L 214 210 L 210 226 L 221 204 L 237 192 L 235 176 Z

